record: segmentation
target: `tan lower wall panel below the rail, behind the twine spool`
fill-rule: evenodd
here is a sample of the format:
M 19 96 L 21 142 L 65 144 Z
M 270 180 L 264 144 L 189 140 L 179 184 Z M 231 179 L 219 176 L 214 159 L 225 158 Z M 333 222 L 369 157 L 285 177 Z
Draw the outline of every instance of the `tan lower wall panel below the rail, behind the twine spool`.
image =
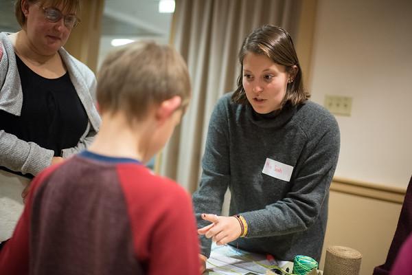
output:
M 361 252 L 360 275 L 371 275 L 374 267 L 385 263 L 401 208 L 400 203 L 332 190 L 321 270 L 325 264 L 326 248 L 341 245 Z

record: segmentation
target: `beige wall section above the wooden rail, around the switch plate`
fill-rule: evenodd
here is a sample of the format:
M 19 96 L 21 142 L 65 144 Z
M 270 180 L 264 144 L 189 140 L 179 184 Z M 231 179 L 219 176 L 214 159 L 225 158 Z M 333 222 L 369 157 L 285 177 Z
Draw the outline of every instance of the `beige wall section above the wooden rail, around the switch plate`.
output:
M 412 1 L 319 0 L 312 99 L 351 96 L 352 115 L 337 116 L 336 174 L 407 187 L 412 174 Z

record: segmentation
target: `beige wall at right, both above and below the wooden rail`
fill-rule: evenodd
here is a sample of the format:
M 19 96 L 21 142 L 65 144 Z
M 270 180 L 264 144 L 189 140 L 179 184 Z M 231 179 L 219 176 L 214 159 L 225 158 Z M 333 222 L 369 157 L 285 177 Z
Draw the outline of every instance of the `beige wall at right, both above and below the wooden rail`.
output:
M 412 1 L 318 0 L 308 89 L 353 98 L 336 116 L 341 154 L 336 177 L 406 188 L 412 175 Z M 332 185 L 333 186 L 333 185 Z M 385 262 L 402 204 L 331 190 L 323 250 L 363 254 L 361 275 Z M 325 252 L 321 259 L 324 265 Z

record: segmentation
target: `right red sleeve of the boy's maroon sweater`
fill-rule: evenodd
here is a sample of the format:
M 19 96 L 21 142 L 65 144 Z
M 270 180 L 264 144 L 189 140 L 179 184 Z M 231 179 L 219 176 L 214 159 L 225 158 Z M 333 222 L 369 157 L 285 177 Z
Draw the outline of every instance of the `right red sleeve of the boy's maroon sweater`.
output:
M 146 168 L 144 168 L 146 169 Z M 147 169 L 146 169 L 147 170 Z M 119 169 L 135 256 L 150 275 L 199 275 L 199 243 L 190 196 L 174 181 Z

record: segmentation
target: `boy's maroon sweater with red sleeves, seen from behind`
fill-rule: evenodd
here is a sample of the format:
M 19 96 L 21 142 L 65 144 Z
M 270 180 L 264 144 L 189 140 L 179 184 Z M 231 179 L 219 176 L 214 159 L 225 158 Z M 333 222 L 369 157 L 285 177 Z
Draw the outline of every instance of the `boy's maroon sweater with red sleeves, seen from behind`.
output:
M 0 274 L 199 274 L 198 250 L 183 188 L 86 151 L 32 181 Z

